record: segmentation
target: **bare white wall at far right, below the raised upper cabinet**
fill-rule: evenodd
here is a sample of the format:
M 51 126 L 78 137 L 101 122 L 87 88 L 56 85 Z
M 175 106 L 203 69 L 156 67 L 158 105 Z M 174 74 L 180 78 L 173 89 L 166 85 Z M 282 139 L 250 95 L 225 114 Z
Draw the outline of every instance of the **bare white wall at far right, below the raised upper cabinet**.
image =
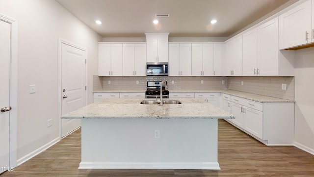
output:
M 296 51 L 295 142 L 314 154 L 314 47 Z

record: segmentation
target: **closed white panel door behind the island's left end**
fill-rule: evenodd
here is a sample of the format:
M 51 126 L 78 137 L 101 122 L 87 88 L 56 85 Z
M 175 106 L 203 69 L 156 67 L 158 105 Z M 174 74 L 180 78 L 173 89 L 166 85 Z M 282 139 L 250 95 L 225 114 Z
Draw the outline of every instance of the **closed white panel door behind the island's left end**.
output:
M 61 44 L 61 114 L 75 111 L 85 102 L 86 51 Z M 80 126 L 78 119 L 62 119 L 61 135 L 64 137 Z

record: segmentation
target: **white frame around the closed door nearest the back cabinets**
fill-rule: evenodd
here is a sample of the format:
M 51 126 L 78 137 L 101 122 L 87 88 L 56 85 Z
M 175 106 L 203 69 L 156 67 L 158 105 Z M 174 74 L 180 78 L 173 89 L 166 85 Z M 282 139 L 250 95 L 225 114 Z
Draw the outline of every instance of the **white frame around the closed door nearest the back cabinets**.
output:
M 62 44 L 66 44 L 66 45 L 69 45 L 69 46 L 72 46 L 72 47 L 75 47 L 75 48 L 78 48 L 78 49 L 80 49 L 80 50 L 83 50 L 83 51 L 85 51 L 86 52 L 86 64 L 85 64 L 85 86 L 86 86 L 86 90 L 85 90 L 85 106 L 86 106 L 86 104 L 87 104 L 87 96 L 88 96 L 88 87 L 87 87 L 87 83 L 88 83 L 88 81 L 87 81 L 87 63 L 88 63 L 88 60 L 87 60 L 87 50 L 86 49 L 84 49 L 83 47 L 80 47 L 80 46 L 78 46 L 78 45 L 76 45 L 76 44 L 73 44 L 73 43 L 71 43 L 71 42 L 69 42 L 69 41 L 66 41 L 66 40 L 64 40 L 64 39 L 61 39 L 61 38 L 58 38 L 58 116 L 59 116 L 59 138 L 61 139 L 62 138 L 62 132 L 61 132 L 61 130 L 62 130 L 62 123 L 61 123 L 61 114 L 62 114 L 62 99 L 61 99 L 61 97 L 62 97 L 62 85 L 61 85 L 61 70 L 62 70 L 62 68 L 61 68 L 61 48 L 62 48 Z M 68 134 L 69 135 L 69 134 Z M 67 135 L 66 135 L 67 136 Z M 66 136 L 64 136 L 64 137 L 66 137 Z M 63 137 L 63 138 L 64 138 Z

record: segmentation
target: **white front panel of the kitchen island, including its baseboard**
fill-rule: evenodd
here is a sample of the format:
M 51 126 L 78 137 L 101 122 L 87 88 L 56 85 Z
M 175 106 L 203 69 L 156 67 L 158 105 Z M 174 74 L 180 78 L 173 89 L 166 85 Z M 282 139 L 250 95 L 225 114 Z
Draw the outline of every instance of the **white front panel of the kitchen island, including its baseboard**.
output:
M 79 169 L 217 170 L 217 131 L 217 119 L 82 119 Z

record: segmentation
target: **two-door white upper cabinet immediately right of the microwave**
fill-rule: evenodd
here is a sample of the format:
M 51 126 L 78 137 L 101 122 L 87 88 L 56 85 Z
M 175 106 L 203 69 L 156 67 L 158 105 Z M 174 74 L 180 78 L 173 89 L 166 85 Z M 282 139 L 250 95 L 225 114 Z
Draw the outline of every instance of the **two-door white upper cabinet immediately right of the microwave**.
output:
M 191 43 L 169 44 L 169 76 L 191 76 Z

